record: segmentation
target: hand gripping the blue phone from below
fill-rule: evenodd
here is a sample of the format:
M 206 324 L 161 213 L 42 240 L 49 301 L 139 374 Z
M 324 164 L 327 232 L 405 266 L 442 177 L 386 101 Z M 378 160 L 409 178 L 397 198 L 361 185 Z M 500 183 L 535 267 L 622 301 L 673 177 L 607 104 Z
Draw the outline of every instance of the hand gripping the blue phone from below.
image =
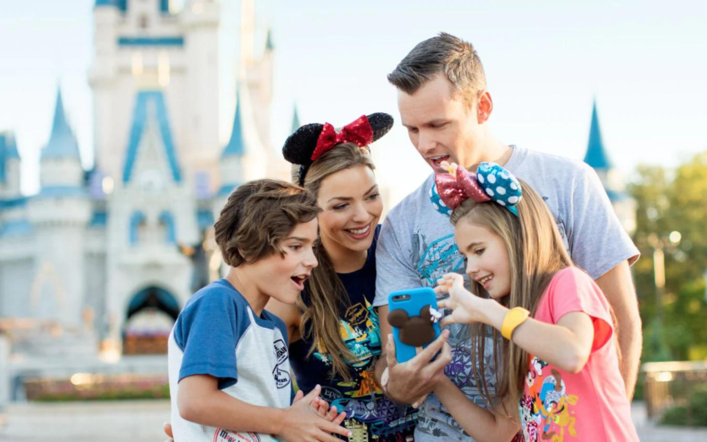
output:
M 395 359 L 395 342 L 392 335 L 387 336 L 385 358 L 388 368 L 388 380 L 385 385 L 386 394 L 396 402 L 412 404 L 428 395 L 442 379 L 444 368 L 452 360 L 452 349 L 447 344 L 449 330 L 419 352 L 413 359 L 398 364 Z M 432 360 L 438 351 L 442 351 L 437 359 Z

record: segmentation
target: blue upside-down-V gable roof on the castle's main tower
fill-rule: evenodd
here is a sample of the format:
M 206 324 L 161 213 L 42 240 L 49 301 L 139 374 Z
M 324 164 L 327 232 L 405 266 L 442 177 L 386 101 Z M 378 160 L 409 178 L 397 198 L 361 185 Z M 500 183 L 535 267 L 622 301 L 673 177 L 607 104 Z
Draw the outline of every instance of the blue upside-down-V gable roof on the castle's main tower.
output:
M 140 146 L 140 140 L 144 132 L 148 119 L 148 103 L 153 103 L 155 117 L 157 119 L 162 142 L 165 146 L 165 153 L 172 172 L 172 178 L 175 182 L 182 181 L 182 171 L 177 162 L 177 150 L 175 149 L 172 139 L 172 131 L 170 129 L 169 115 L 165 106 L 165 97 L 162 91 L 140 91 L 135 99 L 135 108 L 133 111 L 133 122 L 130 129 L 130 137 L 128 139 L 127 157 L 125 158 L 125 166 L 123 168 L 123 182 L 130 181 L 132 176 L 132 168 L 137 157 L 137 150 Z

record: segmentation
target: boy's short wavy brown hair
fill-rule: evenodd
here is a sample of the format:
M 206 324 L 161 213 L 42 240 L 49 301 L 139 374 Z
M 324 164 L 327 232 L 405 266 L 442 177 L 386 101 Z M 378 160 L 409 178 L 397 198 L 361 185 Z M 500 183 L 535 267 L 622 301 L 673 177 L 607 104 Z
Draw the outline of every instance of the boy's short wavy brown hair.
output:
M 252 264 L 274 252 L 284 252 L 281 240 L 299 223 L 315 219 L 317 199 L 302 187 L 279 180 L 254 180 L 228 197 L 214 224 L 216 244 L 226 264 Z

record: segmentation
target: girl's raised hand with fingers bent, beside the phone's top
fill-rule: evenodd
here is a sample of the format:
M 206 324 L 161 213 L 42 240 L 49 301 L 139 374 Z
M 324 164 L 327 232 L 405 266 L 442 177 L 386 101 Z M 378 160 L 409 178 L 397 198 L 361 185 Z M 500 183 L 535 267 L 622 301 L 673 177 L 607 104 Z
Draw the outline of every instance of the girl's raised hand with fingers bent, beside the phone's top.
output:
M 483 298 L 474 295 L 464 289 L 464 277 L 458 273 L 445 274 L 437 281 L 435 293 L 449 293 L 449 298 L 437 301 L 438 308 L 450 308 L 452 314 L 445 316 L 440 325 L 445 326 L 454 323 L 471 324 L 480 322 L 482 318 Z

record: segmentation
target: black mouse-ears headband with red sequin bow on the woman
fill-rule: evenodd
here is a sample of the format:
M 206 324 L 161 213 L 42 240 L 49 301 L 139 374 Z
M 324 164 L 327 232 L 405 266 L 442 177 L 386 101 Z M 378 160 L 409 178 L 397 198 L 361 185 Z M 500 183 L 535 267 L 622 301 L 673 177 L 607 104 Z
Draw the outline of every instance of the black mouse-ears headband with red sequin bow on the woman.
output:
M 337 133 L 329 123 L 305 124 L 288 136 L 282 148 L 287 161 L 300 166 L 298 184 L 304 185 L 310 165 L 327 151 L 341 143 L 354 143 L 359 147 L 377 141 L 393 126 L 393 117 L 378 112 L 362 115 L 351 124 L 346 124 Z

